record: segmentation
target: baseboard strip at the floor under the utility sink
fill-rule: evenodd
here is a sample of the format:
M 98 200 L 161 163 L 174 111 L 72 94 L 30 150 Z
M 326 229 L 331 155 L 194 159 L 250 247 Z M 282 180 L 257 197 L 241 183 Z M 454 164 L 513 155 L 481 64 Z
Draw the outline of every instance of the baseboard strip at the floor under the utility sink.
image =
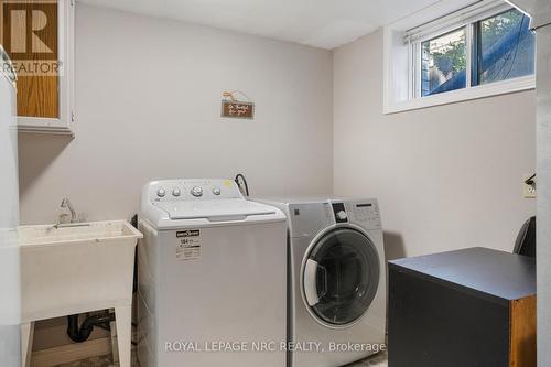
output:
M 31 366 L 53 367 L 94 356 L 105 356 L 110 353 L 111 338 L 102 337 L 84 343 L 33 352 Z

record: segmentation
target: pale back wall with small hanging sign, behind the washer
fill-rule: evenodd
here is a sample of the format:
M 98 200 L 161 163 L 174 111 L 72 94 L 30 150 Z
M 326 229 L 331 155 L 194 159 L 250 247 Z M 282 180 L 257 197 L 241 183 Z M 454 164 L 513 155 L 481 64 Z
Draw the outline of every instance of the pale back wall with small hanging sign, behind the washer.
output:
M 76 138 L 21 136 L 21 219 L 129 218 L 154 179 L 233 177 L 253 195 L 333 187 L 328 51 L 78 4 Z M 224 90 L 257 104 L 220 119 Z

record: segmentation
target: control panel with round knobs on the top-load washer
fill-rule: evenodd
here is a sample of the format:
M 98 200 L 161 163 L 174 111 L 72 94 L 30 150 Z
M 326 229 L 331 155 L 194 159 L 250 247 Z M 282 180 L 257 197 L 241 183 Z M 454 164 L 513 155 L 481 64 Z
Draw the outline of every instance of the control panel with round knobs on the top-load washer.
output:
M 150 201 L 154 203 L 244 198 L 237 184 L 231 180 L 154 181 L 147 190 Z

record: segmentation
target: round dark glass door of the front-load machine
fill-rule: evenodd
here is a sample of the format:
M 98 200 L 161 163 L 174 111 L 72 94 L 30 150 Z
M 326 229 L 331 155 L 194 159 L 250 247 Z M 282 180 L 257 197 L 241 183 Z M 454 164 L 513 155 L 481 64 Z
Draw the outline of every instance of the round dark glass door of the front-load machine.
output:
M 338 228 L 312 248 L 303 273 L 307 306 L 323 322 L 343 326 L 360 319 L 379 285 L 379 256 L 371 240 Z

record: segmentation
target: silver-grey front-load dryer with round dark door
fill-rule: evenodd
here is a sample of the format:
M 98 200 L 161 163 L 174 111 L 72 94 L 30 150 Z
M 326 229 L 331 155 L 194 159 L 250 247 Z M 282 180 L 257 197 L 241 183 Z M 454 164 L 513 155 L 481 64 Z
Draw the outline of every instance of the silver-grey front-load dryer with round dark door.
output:
M 262 201 L 289 217 L 289 367 L 336 367 L 385 348 L 376 199 Z

